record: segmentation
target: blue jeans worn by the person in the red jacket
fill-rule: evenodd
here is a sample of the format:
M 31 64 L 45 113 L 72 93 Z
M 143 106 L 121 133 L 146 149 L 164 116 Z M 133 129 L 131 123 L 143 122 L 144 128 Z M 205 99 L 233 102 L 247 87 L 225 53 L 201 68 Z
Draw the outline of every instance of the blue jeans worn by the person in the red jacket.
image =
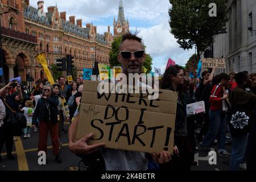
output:
M 214 140 L 218 140 L 218 149 L 224 150 L 226 139 L 226 116 L 222 110 L 209 110 L 209 131 L 204 137 L 203 145 L 211 147 Z

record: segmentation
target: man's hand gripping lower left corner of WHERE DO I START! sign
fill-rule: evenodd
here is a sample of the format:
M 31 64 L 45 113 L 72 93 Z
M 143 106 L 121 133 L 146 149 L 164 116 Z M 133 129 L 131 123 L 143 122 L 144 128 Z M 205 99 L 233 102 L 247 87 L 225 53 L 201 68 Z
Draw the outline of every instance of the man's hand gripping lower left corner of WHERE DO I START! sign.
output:
M 84 138 L 77 140 L 77 142 L 69 141 L 68 147 L 71 152 L 75 154 L 91 154 L 98 150 L 99 147 L 104 146 L 104 143 L 93 144 L 89 146 L 87 141 L 93 136 L 93 134 L 86 135 Z

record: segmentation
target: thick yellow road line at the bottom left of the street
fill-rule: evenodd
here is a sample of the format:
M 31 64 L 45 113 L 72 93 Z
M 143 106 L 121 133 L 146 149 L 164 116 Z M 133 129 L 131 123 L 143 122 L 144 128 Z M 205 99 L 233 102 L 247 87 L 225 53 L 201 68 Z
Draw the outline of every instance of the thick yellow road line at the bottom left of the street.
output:
M 16 137 L 15 147 L 18 158 L 19 171 L 28 171 L 28 164 L 26 154 L 22 145 L 20 137 Z

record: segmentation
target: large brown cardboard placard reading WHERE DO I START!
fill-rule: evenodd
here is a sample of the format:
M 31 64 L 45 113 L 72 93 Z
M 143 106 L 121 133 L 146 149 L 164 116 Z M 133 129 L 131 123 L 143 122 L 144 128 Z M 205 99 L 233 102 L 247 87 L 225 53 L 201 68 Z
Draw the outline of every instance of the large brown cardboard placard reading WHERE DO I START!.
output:
M 173 152 L 177 93 L 98 93 L 97 81 L 86 80 L 75 140 L 94 133 L 89 144 L 107 148 L 158 153 Z M 114 85 L 114 84 L 113 84 Z

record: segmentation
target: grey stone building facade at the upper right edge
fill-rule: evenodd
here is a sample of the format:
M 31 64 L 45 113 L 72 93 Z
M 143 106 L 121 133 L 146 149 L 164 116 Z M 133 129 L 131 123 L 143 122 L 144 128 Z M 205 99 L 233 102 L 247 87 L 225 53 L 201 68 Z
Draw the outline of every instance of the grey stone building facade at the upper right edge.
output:
M 226 59 L 226 69 L 217 73 L 256 72 L 256 1 L 230 0 L 226 34 L 214 36 L 214 57 Z

